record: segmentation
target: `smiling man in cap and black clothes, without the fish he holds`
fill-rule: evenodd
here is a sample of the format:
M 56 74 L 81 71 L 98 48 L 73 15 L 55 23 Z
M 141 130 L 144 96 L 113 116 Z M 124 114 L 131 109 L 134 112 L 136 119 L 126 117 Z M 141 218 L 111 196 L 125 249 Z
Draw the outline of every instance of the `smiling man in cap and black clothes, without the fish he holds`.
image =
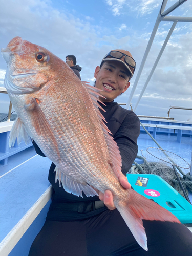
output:
M 140 132 L 139 119 L 133 112 L 122 109 L 114 102 L 114 99 L 129 88 L 129 81 L 133 76 L 135 67 L 136 63 L 130 52 L 125 50 L 112 50 L 103 58 L 100 67 L 97 66 L 95 70 L 95 87 L 101 89 L 102 91 L 99 93 L 104 96 L 104 98 L 99 97 L 99 100 L 106 105 L 103 106 L 100 103 L 106 112 L 102 110 L 100 111 L 108 122 L 106 125 L 110 128 L 110 131 L 113 131 L 112 136 L 115 138 L 115 141 L 120 148 L 122 171 L 124 174 L 120 173 L 118 179 L 121 185 L 126 189 L 131 188 L 125 175 L 137 155 L 136 142 Z M 123 119 L 123 121 L 121 119 Z M 119 130 L 121 130 L 121 132 L 119 132 Z M 54 188 L 55 194 L 53 195 L 53 200 L 55 197 L 56 202 L 58 200 L 63 200 L 63 198 L 61 199 L 60 193 L 60 190 L 63 192 L 63 188 L 61 187 L 59 190 L 58 182 L 55 184 L 55 176 L 53 175 L 54 167 L 50 169 L 49 180 Z M 57 186 L 57 188 L 55 186 Z M 182 242 L 180 241 L 179 244 L 178 242 L 176 244 L 173 243 L 174 237 L 176 237 L 173 237 L 174 228 L 173 231 L 170 232 L 173 225 L 181 231 L 182 228 L 180 229 L 180 224 L 173 224 L 170 222 L 152 223 L 146 221 L 146 230 L 149 230 L 149 233 L 151 232 L 151 236 L 150 234 L 147 236 L 149 241 L 149 251 L 147 252 L 134 241 L 134 237 L 129 233 L 130 231 L 128 232 L 126 224 L 123 222 L 119 212 L 115 210 L 116 207 L 113 202 L 112 192 L 106 190 L 103 194 L 97 189 L 96 191 L 99 195 L 99 199 L 102 200 L 104 204 L 102 201 L 95 201 L 90 204 L 85 197 L 83 197 L 83 199 L 79 198 L 81 200 L 77 203 L 77 200 L 74 202 L 74 199 L 69 199 L 70 196 L 75 196 L 67 193 L 66 199 L 69 200 L 69 203 L 63 203 L 63 206 L 62 203 L 60 203 L 59 206 L 58 203 L 52 205 L 46 218 L 46 224 L 34 241 L 29 256 L 46 255 L 50 250 L 50 255 L 62 255 L 61 251 L 63 250 L 63 254 L 69 256 L 183 255 Z M 62 196 L 63 195 L 64 194 L 62 193 Z M 104 205 L 107 206 L 109 210 L 114 211 L 109 211 Z M 58 207 L 58 210 L 56 210 L 56 207 Z M 58 212 L 62 217 L 57 216 Z M 84 216 L 82 217 L 82 215 Z M 191 241 L 190 231 L 188 231 L 186 227 L 184 227 L 184 229 L 190 237 L 188 241 Z M 155 231 L 157 230 L 161 231 L 158 231 L 158 235 L 155 236 Z M 165 233 L 167 230 L 170 232 L 168 236 Z M 48 237 L 51 239 L 51 246 L 47 245 Z M 42 245 L 41 243 L 43 241 L 44 244 Z M 155 245 L 154 241 L 157 241 Z M 150 246 L 149 243 L 152 245 Z M 173 252 L 171 243 L 177 248 L 177 254 L 171 253 Z M 161 244 L 164 244 L 162 248 L 160 248 Z M 169 248 L 167 245 L 169 245 Z M 55 246 L 57 248 L 53 251 Z M 152 247 L 152 249 L 150 247 Z M 189 251 L 189 248 L 187 251 Z

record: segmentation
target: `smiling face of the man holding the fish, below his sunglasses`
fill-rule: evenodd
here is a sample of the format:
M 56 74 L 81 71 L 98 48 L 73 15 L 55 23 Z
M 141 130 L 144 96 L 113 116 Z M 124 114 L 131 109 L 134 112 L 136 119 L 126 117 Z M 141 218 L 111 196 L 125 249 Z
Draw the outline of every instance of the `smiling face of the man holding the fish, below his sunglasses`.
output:
M 99 93 L 106 98 L 100 98 L 103 102 L 113 101 L 130 86 L 129 72 L 118 61 L 104 61 L 101 68 L 97 66 L 95 78 L 95 87 L 101 89 L 102 92 Z

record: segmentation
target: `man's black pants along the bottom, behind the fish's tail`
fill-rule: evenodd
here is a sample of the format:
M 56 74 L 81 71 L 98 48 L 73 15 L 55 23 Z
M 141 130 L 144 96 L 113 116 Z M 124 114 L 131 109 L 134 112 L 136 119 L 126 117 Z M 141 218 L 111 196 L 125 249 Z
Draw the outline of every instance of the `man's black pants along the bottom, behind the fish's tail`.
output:
M 191 256 L 192 233 L 183 224 L 143 221 L 148 252 L 117 210 L 73 222 L 46 221 L 29 256 Z

